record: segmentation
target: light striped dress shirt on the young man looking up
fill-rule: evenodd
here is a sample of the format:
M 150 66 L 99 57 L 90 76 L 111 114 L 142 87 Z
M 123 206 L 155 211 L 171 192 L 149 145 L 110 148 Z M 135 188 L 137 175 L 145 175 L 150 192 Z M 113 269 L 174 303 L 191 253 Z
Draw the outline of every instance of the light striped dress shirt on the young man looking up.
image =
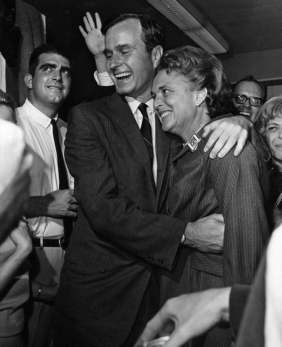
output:
M 17 108 L 18 126 L 24 133 L 27 151 L 33 154 L 30 169 L 30 196 L 45 196 L 59 189 L 59 174 L 56 147 L 53 138 L 51 119 L 35 108 L 27 99 L 22 107 Z M 55 118 L 57 122 L 59 141 L 64 156 L 64 140 L 67 124 Z M 66 168 L 70 189 L 74 180 Z M 35 217 L 29 219 L 32 236 L 50 237 L 64 234 L 63 220 L 51 217 Z

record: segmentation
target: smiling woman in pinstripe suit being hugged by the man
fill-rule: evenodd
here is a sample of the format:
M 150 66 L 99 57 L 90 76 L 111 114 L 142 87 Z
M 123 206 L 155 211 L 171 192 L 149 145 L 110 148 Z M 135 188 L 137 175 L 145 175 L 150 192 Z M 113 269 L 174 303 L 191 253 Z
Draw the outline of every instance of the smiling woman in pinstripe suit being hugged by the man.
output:
M 161 304 L 188 292 L 250 284 L 269 235 L 264 210 L 268 177 L 249 142 L 238 157 L 229 152 L 223 159 L 211 159 L 210 150 L 204 150 L 208 137 L 202 138 L 203 127 L 223 115 L 230 100 L 221 62 L 191 46 L 168 51 L 152 94 L 162 129 L 183 142 L 172 160 L 168 213 L 187 222 L 221 213 L 225 222 L 223 254 L 182 247 L 174 270 L 163 271 Z M 215 328 L 193 346 L 229 347 L 230 342 L 228 328 Z

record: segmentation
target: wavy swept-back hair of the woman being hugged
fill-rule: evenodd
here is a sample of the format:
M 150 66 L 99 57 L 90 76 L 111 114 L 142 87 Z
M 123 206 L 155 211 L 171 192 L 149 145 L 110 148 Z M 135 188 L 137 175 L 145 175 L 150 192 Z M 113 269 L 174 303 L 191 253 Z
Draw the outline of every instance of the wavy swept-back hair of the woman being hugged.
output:
M 211 118 L 225 113 L 230 103 L 231 84 L 223 66 L 212 54 L 192 46 L 182 46 L 165 52 L 157 73 L 176 73 L 187 82 L 190 91 L 207 88 L 206 104 Z

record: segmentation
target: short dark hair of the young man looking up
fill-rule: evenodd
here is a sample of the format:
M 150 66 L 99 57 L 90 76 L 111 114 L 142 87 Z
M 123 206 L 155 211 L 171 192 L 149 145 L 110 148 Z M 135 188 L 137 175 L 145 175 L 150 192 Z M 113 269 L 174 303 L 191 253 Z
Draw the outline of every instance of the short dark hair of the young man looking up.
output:
M 62 56 L 63 58 L 69 60 L 70 62 L 70 67 L 72 70 L 72 60 L 68 56 L 66 52 L 64 52 L 61 49 L 56 48 L 55 46 L 48 44 L 48 43 L 43 43 L 36 48 L 31 53 L 30 59 L 29 59 L 29 74 L 34 77 L 35 74 L 35 69 L 38 67 L 39 64 L 39 57 L 41 54 L 58 54 L 59 56 Z

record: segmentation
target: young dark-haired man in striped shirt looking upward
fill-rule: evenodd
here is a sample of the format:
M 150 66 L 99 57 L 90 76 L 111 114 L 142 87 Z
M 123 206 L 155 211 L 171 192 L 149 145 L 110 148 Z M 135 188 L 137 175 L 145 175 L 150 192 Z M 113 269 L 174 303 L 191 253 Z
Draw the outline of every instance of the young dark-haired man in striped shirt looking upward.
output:
M 70 92 L 71 70 L 70 59 L 53 46 L 43 44 L 35 48 L 29 61 L 29 74 L 25 76 L 28 98 L 17 109 L 17 123 L 24 132 L 27 150 L 33 154 L 30 207 L 26 214 L 34 244 L 30 268 L 34 305 L 28 320 L 28 346 L 48 346 L 51 340 L 52 304 L 65 253 L 59 242 L 64 235 L 63 218 L 76 217 L 78 210 L 73 197 L 73 178 L 66 166 L 69 187 L 59 189 L 53 136 L 56 127 L 64 156 L 66 123 L 58 118 L 58 110 Z

